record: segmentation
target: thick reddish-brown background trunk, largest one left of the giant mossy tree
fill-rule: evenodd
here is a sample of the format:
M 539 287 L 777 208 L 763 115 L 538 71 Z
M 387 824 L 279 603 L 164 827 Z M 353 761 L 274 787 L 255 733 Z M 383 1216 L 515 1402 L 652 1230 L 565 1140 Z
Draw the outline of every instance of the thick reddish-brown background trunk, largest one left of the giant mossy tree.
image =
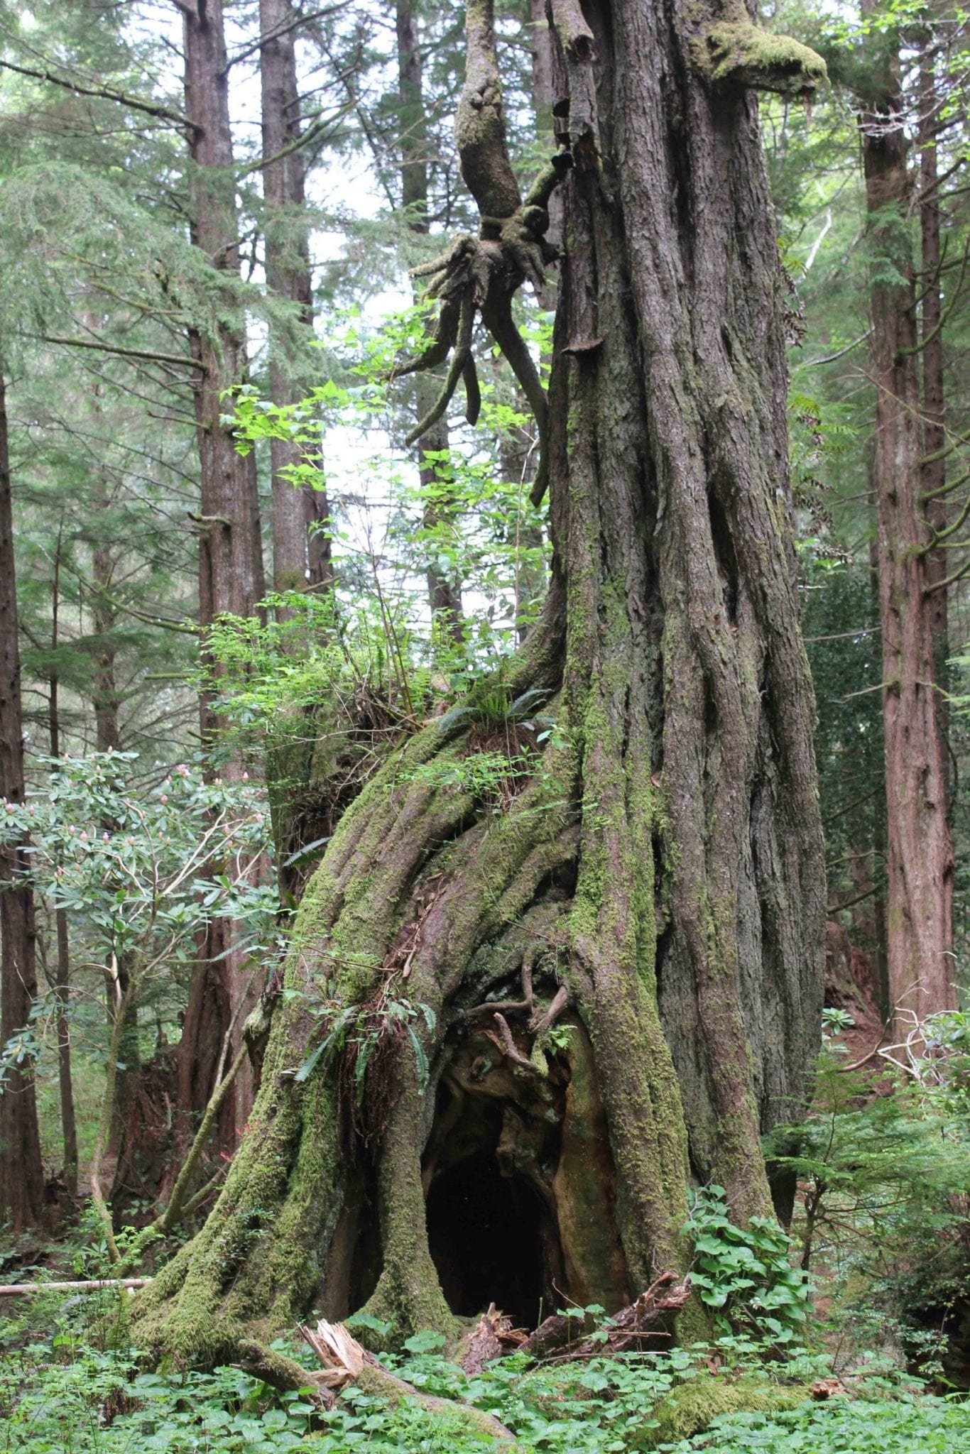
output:
M 246 377 L 246 336 L 233 284 L 239 281 L 239 230 L 233 135 L 228 115 L 228 68 L 221 0 L 182 3 L 185 47 L 185 106 L 192 119 L 191 227 L 192 241 L 225 281 L 218 314 L 195 329 L 189 343 L 202 365 L 195 385 L 195 416 L 199 445 L 199 625 L 205 631 L 224 612 L 256 615 L 265 595 L 263 555 L 256 493 L 256 461 L 237 452 L 231 430 L 224 426 L 221 394 Z M 209 663 L 212 664 L 212 663 Z M 202 740 L 215 747 L 220 718 L 214 694 L 201 698 Z M 230 756 L 225 774 L 240 772 Z M 231 948 L 233 925 L 217 919 L 199 947 L 199 964 L 189 992 L 179 1053 L 180 1137 L 191 1137 L 191 1122 L 205 1109 L 221 1063 L 233 1057 L 246 1006 L 246 980 L 239 955 Z M 227 1041 L 228 1034 L 228 1041 Z M 234 1146 L 247 1106 L 247 1086 L 237 1079 L 227 1098 L 218 1127 L 224 1150 Z

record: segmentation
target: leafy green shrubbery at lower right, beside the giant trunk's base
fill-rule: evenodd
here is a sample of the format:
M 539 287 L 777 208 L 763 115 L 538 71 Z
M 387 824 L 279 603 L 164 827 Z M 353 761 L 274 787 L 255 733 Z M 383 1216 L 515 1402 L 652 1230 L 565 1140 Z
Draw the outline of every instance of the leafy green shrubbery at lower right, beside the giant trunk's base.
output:
M 803 1266 L 825 1278 L 841 1367 L 886 1346 L 926 1377 L 961 1377 L 966 1354 L 950 1341 L 970 1307 L 966 1025 L 928 1021 L 891 1093 L 873 1095 L 823 1050 L 811 1114 L 768 1140 L 804 1188 L 793 1230 Z

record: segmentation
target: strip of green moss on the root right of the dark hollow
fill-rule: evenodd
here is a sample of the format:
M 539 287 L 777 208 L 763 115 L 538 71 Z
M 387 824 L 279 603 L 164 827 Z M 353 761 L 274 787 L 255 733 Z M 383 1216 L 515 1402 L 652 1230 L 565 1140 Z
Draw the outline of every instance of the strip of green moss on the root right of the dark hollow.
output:
M 589 971 L 580 1005 L 608 1111 L 621 1240 L 634 1284 L 646 1287 L 653 1268 L 684 1265 L 686 1130 L 657 1011 L 656 790 L 649 744 L 637 737 L 647 728 L 627 702 L 622 583 L 605 585 L 602 601 L 602 659 L 582 699 L 580 871 L 569 926 Z

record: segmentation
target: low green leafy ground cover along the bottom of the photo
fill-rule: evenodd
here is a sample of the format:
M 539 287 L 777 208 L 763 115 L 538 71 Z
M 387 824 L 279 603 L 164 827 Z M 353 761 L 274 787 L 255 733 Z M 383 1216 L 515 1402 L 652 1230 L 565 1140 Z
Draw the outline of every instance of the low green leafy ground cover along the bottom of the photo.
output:
M 96 1300 L 97 1301 L 97 1300 Z M 102 1300 L 86 1336 L 77 1298 L 52 1313 L 58 1329 L 26 1338 L 1 1325 L 3 1454 L 492 1454 L 502 1442 L 470 1429 L 468 1406 L 497 1416 L 522 1454 L 961 1454 L 970 1450 L 970 1406 L 877 1362 L 819 1400 L 825 1357 L 766 1361 L 742 1339 L 659 1354 L 529 1367 L 512 1355 L 468 1375 L 417 1335 L 384 1364 L 435 1407 L 350 1389 L 321 1409 L 307 1370 L 302 1390 L 278 1391 L 240 1367 L 212 1373 L 148 1373 L 137 1354 L 111 1346 L 124 1328 L 115 1294 Z M 89 1298 L 90 1303 L 90 1298 Z M 73 1304 L 73 1306 L 71 1306 Z M 121 1316 L 119 1316 L 121 1312 Z M 90 1316 L 90 1314 L 89 1314 Z M 15 1345 L 16 1343 L 16 1351 Z M 285 1342 L 279 1349 L 301 1357 Z M 451 1400 L 451 1403 L 448 1402 Z

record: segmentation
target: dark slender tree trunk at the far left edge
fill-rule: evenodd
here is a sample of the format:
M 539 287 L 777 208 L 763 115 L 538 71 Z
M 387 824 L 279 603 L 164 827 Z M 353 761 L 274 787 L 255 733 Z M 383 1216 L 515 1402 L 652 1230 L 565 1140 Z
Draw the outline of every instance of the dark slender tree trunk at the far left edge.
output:
M 23 714 L 13 555 L 13 502 L 7 442 L 6 379 L 0 371 L 0 798 L 23 803 Z M 0 878 L 28 867 L 26 845 L 0 845 Z M 36 997 L 33 893 L 0 893 L 0 1048 L 23 1029 Z M 23 1232 L 44 1214 L 44 1166 L 33 1092 L 33 1066 L 6 1069 L 0 1089 L 0 1218 Z

